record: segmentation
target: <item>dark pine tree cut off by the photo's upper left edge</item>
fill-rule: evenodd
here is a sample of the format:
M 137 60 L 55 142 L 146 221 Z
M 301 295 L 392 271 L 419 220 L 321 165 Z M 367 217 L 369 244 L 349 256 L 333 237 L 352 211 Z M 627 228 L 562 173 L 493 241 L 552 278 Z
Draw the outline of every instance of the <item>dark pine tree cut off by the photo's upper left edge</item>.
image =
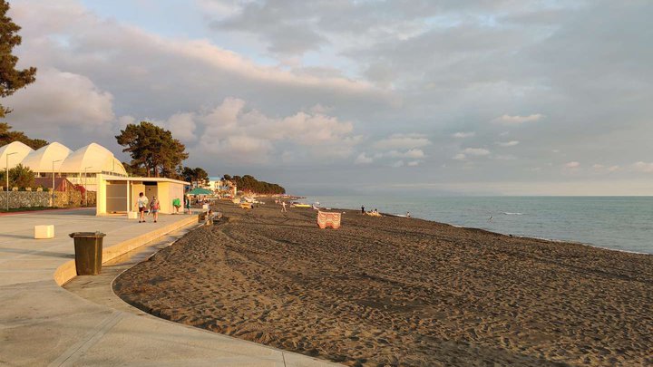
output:
M 0 97 L 5 98 L 14 94 L 17 90 L 24 88 L 36 80 L 36 68 L 29 67 L 23 70 L 16 70 L 18 57 L 12 52 L 14 47 L 19 45 L 23 39 L 18 35 L 21 27 L 7 16 L 9 3 L 0 0 Z M 12 110 L 0 104 L 0 118 Z

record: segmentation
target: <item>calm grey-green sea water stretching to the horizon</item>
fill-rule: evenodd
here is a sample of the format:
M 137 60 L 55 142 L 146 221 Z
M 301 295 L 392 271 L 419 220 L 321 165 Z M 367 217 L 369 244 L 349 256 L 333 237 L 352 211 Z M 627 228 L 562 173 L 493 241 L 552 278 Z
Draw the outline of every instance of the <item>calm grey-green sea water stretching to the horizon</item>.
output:
M 309 197 L 322 207 L 377 208 L 455 226 L 653 254 L 653 197 Z M 491 219 L 492 217 L 492 219 Z

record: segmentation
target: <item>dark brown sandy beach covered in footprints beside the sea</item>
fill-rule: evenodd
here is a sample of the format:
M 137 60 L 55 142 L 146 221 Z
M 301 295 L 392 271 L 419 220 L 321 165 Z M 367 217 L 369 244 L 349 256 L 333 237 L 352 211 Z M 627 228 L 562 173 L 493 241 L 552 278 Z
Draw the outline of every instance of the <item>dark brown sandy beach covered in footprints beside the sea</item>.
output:
M 653 256 L 416 218 L 216 208 L 121 275 L 151 314 L 346 365 L 653 365 Z

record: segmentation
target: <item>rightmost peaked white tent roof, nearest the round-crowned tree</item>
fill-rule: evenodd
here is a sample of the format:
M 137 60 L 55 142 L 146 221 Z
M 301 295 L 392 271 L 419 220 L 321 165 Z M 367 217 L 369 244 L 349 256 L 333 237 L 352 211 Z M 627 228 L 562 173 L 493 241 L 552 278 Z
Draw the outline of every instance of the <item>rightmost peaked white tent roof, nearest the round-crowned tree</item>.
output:
M 59 168 L 61 172 L 114 172 L 126 174 L 120 160 L 113 157 L 113 153 L 102 145 L 91 143 L 73 151 Z

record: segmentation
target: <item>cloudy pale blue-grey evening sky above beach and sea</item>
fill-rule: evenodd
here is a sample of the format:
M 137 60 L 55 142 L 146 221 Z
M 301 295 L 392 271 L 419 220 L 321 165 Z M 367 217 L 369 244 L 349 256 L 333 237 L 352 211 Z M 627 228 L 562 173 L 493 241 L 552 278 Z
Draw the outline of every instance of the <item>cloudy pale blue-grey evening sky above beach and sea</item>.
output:
M 13 0 L 6 121 L 291 193 L 653 195 L 653 2 Z

